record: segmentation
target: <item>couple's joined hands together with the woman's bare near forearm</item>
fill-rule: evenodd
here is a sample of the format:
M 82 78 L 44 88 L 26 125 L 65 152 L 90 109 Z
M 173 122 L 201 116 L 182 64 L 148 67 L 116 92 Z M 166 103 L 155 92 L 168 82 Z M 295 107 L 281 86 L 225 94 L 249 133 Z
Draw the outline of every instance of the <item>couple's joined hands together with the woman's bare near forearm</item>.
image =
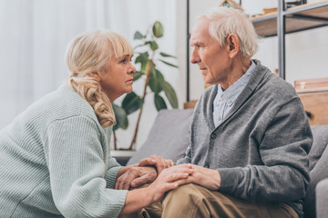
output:
M 186 183 L 196 183 L 210 190 L 220 188 L 220 173 L 195 164 L 174 165 L 171 160 L 150 156 L 140 163 L 123 167 L 118 171 L 115 189 L 129 190 L 144 183 L 148 187 L 130 190 L 120 214 L 133 213 L 151 203 L 158 202 L 172 189 Z M 137 199 L 143 199 L 138 201 Z

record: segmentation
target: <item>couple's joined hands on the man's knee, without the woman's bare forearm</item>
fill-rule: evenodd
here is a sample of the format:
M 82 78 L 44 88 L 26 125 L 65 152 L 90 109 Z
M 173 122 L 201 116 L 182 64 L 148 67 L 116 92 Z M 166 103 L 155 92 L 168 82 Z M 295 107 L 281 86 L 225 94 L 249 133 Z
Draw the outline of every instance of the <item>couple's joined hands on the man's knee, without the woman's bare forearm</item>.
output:
M 165 188 L 161 186 L 164 190 L 177 188 L 184 183 L 196 183 L 209 190 L 218 190 L 221 181 L 217 170 L 191 163 L 174 166 L 173 161 L 153 155 L 141 160 L 140 163 L 122 168 L 118 172 L 115 189 L 128 190 L 145 183 L 151 183 L 149 187 L 167 185 Z

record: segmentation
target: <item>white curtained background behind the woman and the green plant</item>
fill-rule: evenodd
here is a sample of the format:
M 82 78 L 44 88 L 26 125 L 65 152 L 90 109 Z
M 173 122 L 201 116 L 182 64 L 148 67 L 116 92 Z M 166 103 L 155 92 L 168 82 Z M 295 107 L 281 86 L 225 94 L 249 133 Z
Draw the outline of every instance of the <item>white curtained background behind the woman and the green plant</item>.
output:
M 135 46 L 135 31 L 145 34 L 149 25 L 160 21 L 164 25 L 164 36 L 159 39 L 159 49 L 177 55 L 175 12 L 176 0 L 1 0 L 0 131 L 28 105 L 56 90 L 67 78 L 64 54 L 71 38 L 88 29 L 105 28 L 124 35 Z M 179 80 L 183 76 L 176 68 L 161 63 L 158 66 L 182 104 L 184 94 L 180 94 L 179 87 L 185 83 Z M 133 88 L 142 94 L 142 86 L 139 80 Z M 137 146 L 146 140 L 157 114 L 153 95 L 149 94 Z M 119 147 L 128 147 L 137 116 L 136 113 L 129 117 L 127 131 L 118 131 Z

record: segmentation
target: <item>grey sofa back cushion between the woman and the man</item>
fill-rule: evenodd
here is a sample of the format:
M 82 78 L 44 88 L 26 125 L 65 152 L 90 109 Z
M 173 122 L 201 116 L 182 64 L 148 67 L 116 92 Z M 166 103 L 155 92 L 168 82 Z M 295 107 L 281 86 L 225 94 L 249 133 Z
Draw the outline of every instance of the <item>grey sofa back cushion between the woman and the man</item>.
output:
M 131 157 L 128 165 L 155 154 L 174 162 L 182 158 L 190 144 L 189 129 L 192 113 L 193 109 L 159 111 L 146 142 Z

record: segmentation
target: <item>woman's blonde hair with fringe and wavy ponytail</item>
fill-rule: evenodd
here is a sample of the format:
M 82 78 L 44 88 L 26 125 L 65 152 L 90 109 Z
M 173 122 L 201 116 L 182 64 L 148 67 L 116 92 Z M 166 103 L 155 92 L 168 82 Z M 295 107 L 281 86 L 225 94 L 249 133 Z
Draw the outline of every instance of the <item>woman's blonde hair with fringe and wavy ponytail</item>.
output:
M 66 84 L 93 107 L 103 127 L 116 124 L 115 114 L 108 96 L 94 72 L 108 72 L 110 58 L 133 54 L 128 41 L 109 31 L 91 30 L 74 38 L 67 47 L 66 64 L 70 72 Z

